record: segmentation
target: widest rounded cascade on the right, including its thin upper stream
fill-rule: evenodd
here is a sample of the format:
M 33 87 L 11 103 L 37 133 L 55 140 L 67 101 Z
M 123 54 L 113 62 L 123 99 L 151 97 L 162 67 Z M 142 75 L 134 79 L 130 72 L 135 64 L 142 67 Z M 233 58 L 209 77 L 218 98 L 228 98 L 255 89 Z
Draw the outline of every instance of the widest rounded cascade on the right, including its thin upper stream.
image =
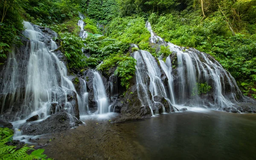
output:
M 146 27 L 151 33 L 151 43 L 168 46 L 172 54 L 177 56 L 175 71 L 172 69 L 170 56 L 166 58 L 166 63 L 159 60 L 168 78 L 169 98 L 173 105 L 189 102 L 189 105 L 207 105 L 211 108 L 237 110 L 233 107 L 233 102 L 237 102 L 237 97 L 242 98 L 242 93 L 235 79 L 214 58 L 209 55 L 207 57 L 205 53 L 196 49 L 185 49 L 170 42 L 166 43 L 152 31 L 149 22 L 146 23 Z M 210 84 L 212 93 L 199 96 L 198 84 Z M 213 100 L 210 101 L 210 99 Z

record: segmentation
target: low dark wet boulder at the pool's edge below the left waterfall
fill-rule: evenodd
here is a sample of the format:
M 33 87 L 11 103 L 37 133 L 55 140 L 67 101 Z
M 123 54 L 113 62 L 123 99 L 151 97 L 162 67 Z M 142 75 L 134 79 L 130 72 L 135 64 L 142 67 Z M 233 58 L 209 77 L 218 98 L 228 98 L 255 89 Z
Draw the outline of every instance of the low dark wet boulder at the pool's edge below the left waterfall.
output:
M 70 123 L 72 122 L 72 123 Z M 81 125 L 82 122 L 76 118 L 68 115 L 66 112 L 58 112 L 49 116 L 47 119 L 32 124 L 25 130 L 25 134 L 28 135 L 40 135 L 40 134 L 49 134 L 56 133 L 70 129 L 72 127 Z

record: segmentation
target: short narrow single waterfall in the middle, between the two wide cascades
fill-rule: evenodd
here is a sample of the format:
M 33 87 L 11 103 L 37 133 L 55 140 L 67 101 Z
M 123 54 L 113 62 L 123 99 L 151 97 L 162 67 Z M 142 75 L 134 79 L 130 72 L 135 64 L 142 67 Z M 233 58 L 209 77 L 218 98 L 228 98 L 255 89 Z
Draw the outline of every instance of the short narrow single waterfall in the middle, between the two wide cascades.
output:
M 102 81 L 102 77 L 99 75 L 98 72 L 94 71 L 94 78 L 93 78 L 93 93 L 94 99 L 97 102 L 99 114 L 108 113 L 108 97 L 105 91 L 105 87 Z

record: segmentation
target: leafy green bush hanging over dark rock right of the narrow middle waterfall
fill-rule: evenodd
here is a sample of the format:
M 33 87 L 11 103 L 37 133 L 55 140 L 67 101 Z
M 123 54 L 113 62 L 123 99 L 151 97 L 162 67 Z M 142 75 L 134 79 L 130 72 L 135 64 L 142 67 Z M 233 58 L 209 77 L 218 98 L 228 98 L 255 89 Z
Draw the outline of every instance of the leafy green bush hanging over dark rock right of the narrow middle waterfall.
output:
M 136 60 L 130 56 L 122 56 L 117 54 L 103 61 L 103 64 L 97 67 L 98 70 L 106 71 L 112 67 L 116 67 L 114 75 L 121 78 L 121 85 L 129 88 L 129 80 L 135 74 Z

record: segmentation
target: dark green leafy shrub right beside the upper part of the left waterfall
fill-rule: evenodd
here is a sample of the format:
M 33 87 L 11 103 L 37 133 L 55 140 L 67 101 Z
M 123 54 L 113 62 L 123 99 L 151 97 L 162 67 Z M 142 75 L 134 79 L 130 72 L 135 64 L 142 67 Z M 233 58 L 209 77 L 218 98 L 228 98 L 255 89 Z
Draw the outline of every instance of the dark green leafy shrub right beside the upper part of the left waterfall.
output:
M 68 32 L 60 33 L 61 52 L 67 57 L 67 66 L 72 68 L 83 68 L 86 66 L 86 56 L 82 52 L 84 43 L 81 38 Z

